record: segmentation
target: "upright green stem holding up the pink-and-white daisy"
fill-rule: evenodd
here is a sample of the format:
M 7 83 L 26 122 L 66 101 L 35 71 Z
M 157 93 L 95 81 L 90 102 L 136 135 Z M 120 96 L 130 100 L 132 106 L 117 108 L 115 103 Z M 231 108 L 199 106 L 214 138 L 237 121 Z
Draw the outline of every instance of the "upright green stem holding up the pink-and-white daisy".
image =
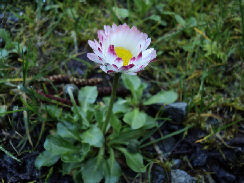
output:
M 112 89 L 112 94 L 111 94 L 111 98 L 110 98 L 110 103 L 109 103 L 109 107 L 108 107 L 108 112 L 107 112 L 107 116 L 103 125 L 103 134 L 106 133 L 106 129 L 108 127 L 108 123 L 110 121 L 111 118 L 111 114 L 112 114 L 112 109 L 113 109 L 113 105 L 114 105 L 114 100 L 116 98 L 116 91 L 117 88 L 119 86 L 119 77 L 120 77 L 120 73 L 116 73 L 114 76 L 114 80 L 113 80 L 113 89 Z

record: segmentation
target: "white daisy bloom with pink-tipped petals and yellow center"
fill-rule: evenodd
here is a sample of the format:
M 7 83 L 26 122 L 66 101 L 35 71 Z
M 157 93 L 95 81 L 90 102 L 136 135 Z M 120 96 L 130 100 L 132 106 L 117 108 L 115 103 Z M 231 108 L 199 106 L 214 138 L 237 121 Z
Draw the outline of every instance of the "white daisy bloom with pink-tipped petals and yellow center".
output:
M 99 42 L 88 41 L 94 53 L 88 53 L 87 57 L 100 64 L 106 73 L 136 75 L 156 58 L 156 51 L 147 49 L 151 39 L 135 26 L 105 25 L 104 30 L 99 30 L 97 34 Z

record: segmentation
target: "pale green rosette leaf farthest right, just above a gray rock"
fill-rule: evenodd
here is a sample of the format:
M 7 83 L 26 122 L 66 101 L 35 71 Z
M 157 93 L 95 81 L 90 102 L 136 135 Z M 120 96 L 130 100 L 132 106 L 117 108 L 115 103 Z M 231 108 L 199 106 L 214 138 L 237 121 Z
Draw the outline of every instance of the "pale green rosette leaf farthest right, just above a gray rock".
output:
M 161 91 L 150 97 L 146 102 L 144 102 L 144 105 L 171 104 L 175 102 L 177 98 L 178 94 L 174 91 Z

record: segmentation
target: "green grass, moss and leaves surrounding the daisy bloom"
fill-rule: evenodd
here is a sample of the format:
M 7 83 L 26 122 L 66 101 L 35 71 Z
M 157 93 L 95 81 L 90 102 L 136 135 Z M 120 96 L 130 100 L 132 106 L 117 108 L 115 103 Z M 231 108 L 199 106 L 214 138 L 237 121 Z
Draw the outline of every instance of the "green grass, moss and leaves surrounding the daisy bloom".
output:
M 18 125 L 24 126 L 18 143 L 8 148 L 1 139 L 0 150 L 17 161 L 44 146 L 36 167 L 52 166 L 61 158 L 60 170 L 72 174 L 76 182 L 81 177 L 87 182 L 105 177 L 112 183 L 121 175 L 116 161 L 120 157 L 135 172 L 151 171 L 151 163 L 160 160 L 146 155 L 143 160 L 143 148 L 159 140 L 180 133 L 186 136 L 197 126 L 206 135 L 196 143 L 220 149 L 219 139 L 224 143 L 241 128 L 243 0 L 16 0 L 1 2 L 0 12 L 0 126 L 17 132 Z M 112 23 L 135 25 L 147 33 L 157 58 L 138 77 L 122 76 L 121 83 L 130 93 L 117 98 L 113 132 L 104 137 L 101 129 L 109 98 L 96 100 L 96 86 L 76 91 L 74 86 L 64 89 L 50 84 L 48 78 L 67 73 L 83 79 L 107 77 L 85 55 L 90 52 L 87 41 Z M 70 68 L 72 61 L 80 63 L 82 76 L 76 66 Z M 170 121 L 162 116 L 164 105 L 154 116 L 148 114 L 150 106 L 176 100 L 188 104 L 184 127 L 147 141 L 160 129 L 159 120 Z M 22 114 L 21 124 L 14 120 L 17 113 Z M 218 125 L 207 124 L 209 117 L 216 118 Z M 101 148 L 105 143 L 105 149 Z M 170 160 L 160 163 L 167 169 Z

